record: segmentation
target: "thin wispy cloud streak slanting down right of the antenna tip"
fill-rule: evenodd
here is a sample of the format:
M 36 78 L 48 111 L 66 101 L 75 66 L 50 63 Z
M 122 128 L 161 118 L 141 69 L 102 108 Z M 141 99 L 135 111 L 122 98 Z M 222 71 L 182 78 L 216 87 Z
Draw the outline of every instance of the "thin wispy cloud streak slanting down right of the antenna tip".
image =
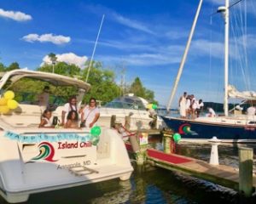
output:
M 125 18 L 122 15 L 115 14 L 115 13 L 113 13 L 113 19 L 122 25 L 131 27 L 139 31 L 144 31 L 149 34 L 154 34 L 154 31 L 151 31 L 147 26 L 144 26 L 142 23 L 138 22 L 137 20 L 130 20 L 128 18 Z

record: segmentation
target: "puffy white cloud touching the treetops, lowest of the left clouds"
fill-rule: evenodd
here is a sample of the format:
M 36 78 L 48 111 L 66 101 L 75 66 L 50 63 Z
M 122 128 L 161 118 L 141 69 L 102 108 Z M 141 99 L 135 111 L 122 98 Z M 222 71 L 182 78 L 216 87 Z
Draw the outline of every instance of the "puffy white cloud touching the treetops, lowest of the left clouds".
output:
M 86 56 L 78 56 L 73 53 L 56 54 L 56 57 L 58 62 L 66 62 L 69 65 L 77 65 L 80 68 L 84 67 L 84 63 L 88 59 Z M 51 60 L 49 59 L 48 55 L 44 56 L 43 63 L 41 64 L 41 66 L 44 64 L 47 64 L 47 65 L 51 64 Z

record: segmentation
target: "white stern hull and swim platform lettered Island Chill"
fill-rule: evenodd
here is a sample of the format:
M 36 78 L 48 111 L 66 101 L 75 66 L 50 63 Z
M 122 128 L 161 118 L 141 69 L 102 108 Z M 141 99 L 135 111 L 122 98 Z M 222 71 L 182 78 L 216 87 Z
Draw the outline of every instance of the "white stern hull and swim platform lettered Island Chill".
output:
M 79 140 L 89 133 L 86 128 L 15 131 L 0 133 L 0 195 L 10 203 L 27 201 L 29 195 L 49 190 L 112 178 L 126 180 L 133 171 L 125 144 L 115 130 L 102 128 L 97 144 Z M 39 131 L 48 140 L 31 140 L 43 137 Z M 77 138 L 66 137 L 72 135 Z

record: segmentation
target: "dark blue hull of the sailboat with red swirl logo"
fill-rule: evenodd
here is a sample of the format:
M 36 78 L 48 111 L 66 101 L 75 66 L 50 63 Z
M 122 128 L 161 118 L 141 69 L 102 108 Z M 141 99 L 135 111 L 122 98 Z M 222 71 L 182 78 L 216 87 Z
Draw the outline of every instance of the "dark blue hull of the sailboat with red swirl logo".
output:
M 223 142 L 256 142 L 255 125 L 231 125 L 220 122 L 199 122 L 195 120 L 162 116 L 167 127 L 179 133 L 184 140 L 207 140 L 217 137 Z

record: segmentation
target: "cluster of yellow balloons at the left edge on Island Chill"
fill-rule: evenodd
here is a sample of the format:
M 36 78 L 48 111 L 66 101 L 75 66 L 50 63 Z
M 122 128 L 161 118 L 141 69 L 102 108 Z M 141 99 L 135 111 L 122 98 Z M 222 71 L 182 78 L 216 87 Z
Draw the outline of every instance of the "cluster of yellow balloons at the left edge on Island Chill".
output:
M 0 98 L 0 113 L 6 114 L 18 107 L 19 104 L 14 98 L 15 93 L 12 91 L 7 91 L 3 94 L 3 98 Z

